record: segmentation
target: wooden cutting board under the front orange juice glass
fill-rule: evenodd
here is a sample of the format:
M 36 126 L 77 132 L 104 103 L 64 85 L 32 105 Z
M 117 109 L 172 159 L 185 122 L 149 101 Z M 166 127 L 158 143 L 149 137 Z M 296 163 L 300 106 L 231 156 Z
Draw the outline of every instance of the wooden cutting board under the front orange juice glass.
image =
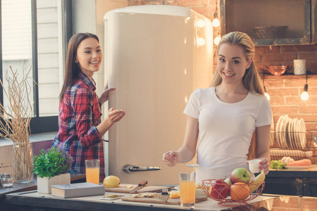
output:
M 196 196 L 196 203 L 207 200 L 207 196 Z M 164 205 L 180 205 L 180 198 L 168 198 L 167 201 L 163 201 L 159 198 L 159 196 L 155 196 L 153 198 L 133 198 L 132 196 L 123 196 L 121 200 L 132 201 L 132 202 L 140 202 L 140 203 L 156 203 L 156 204 L 164 204 Z

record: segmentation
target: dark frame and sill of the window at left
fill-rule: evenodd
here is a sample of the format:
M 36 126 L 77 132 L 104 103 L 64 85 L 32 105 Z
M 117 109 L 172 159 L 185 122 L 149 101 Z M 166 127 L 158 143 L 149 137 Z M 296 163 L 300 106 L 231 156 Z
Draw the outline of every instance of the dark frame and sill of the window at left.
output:
M 37 0 L 31 1 L 32 5 L 32 76 L 35 82 L 38 82 L 38 66 L 37 66 Z M 62 23 L 63 23 L 63 44 L 67 46 L 68 40 L 73 35 L 72 29 L 72 5 L 71 0 L 62 1 Z M 0 17 L 1 17 L 1 0 L 0 0 Z M 2 67 L 2 36 L 1 36 L 1 22 L 0 22 L 0 78 L 3 79 Z M 67 48 L 64 48 L 64 55 L 66 55 Z M 63 66 L 65 67 L 65 60 L 63 59 Z M 31 133 L 38 134 L 43 132 L 57 132 L 58 131 L 58 116 L 39 117 L 39 88 L 35 86 L 34 90 L 34 117 L 30 122 Z M 0 87 L 0 103 L 4 103 L 3 89 Z

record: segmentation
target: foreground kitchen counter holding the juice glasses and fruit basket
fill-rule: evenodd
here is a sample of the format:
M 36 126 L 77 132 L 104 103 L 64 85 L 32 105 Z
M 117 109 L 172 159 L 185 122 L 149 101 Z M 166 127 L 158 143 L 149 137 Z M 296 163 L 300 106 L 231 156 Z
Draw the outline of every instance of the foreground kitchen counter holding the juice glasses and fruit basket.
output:
M 116 194 L 106 192 L 106 195 Z M 127 195 L 123 193 L 122 195 Z M 312 197 L 277 196 L 263 194 L 247 205 L 218 205 L 215 200 L 209 198 L 206 201 L 196 203 L 194 208 L 182 208 L 180 205 L 163 205 L 154 203 L 137 203 L 123 200 L 100 200 L 101 196 L 88 196 L 78 198 L 57 198 L 50 194 L 40 194 L 37 191 L 11 193 L 6 195 L 6 203 L 11 205 L 11 210 L 127 210 L 127 211 L 151 211 L 151 210 L 312 210 L 317 211 L 317 200 Z

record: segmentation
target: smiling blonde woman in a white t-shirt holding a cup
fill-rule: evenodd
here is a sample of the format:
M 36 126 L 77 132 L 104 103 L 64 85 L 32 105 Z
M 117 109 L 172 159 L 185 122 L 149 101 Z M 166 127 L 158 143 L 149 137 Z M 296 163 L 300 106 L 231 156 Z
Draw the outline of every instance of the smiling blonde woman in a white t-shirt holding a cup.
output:
M 197 151 L 197 182 L 230 177 L 237 167 L 249 169 L 247 153 L 256 132 L 256 158 L 268 174 L 272 112 L 254 65 L 254 44 L 247 34 L 230 32 L 217 51 L 211 87 L 194 91 L 185 108 L 184 143 L 165 153 L 163 161 L 173 167 L 192 160 Z

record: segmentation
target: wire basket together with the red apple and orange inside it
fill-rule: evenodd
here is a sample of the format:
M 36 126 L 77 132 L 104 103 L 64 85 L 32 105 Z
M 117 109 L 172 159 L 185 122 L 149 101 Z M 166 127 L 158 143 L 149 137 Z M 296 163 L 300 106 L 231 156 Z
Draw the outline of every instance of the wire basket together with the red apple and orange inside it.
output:
M 218 188 L 213 188 L 215 185 L 215 181 L 224 181 L 223 183 L 216 184 Z M 247 201 L 253 200 L 257 196 L 259 196 L 265 186 L 265 182 L 262 183 L 254 183 L 254 184 L 234 184 L 235 191 L 233 191 L 232 185 L 229 185 L 225 182 L 224 179 L 205 179 L 201 181 L 201 188 L 203 189 L 206 196 L 209 198 L 218 201 L 218 205 L 234 205 L 237 203 L 239 205 L 247 204 Z M 228 196 L 224 197 L 225 189 L 229 188 Z M 252 189 L 256 188 L 255 191 L 250 193 Z M 213 193 L 211 193 L 211 189 L 213 189 Z M 240 198 L 242 200 L 240 200 Z

